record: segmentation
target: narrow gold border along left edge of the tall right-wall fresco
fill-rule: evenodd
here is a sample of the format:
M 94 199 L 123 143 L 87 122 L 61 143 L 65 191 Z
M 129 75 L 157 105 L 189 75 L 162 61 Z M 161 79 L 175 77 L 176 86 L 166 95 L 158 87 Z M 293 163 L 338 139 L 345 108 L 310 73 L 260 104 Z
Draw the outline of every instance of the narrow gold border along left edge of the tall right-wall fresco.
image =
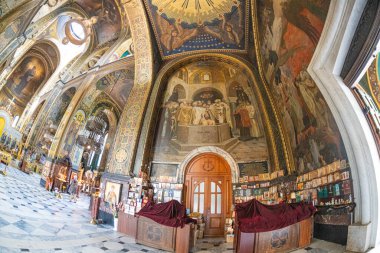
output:
M 294 157 L 293 157 L 293 152 L 290 147 L 290 141 L 289 138 L 284 136 L 284 126 L 282 120 L 279 119 L 278 116 L 278 108 L 277 104 L 273 102 L 273 95 L 270 91 L 270 86 L 265 78 L 264 75 L 264 70 L 262 66 L 262 59 L 261 59 L 261 52 L 260 52 L 260 41 L 259 41 L 259 28 L 258 28 L 258 17 L 257 17 L 257 0 L 252 0 L 252 11 L 251 11 L 251 17 L 252 17 L 252 29 L 253 29 L 253 36 L 254 36 L 254 43 L 255 43 L 255 53 L 256 53 L 256 59 L 257 59 L 257 65 L 259 68 L 259 75 L 261 82 L 264 84 L 264 88 L 268 94 L 269 101 L 271 103 L 271 106 L 273 107 L 274 111 L 274 117 L 276 119 L 276 123 L 280 126 L 280 137 L 281 137 L 281 142 L 282 146 L 284 148 L 284 157 L 285 157 L 285 162 L 287 165 L 288 172 L 291 172 L 291 168 L 295 168 L 295 163 L 294 163 Z M 280 168 L 281 169 L 281 168 Z M 294 169 L 293 169 L 294 170 Z

